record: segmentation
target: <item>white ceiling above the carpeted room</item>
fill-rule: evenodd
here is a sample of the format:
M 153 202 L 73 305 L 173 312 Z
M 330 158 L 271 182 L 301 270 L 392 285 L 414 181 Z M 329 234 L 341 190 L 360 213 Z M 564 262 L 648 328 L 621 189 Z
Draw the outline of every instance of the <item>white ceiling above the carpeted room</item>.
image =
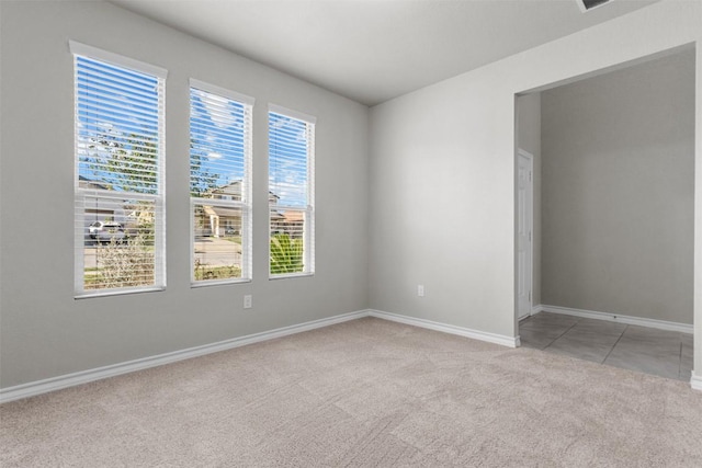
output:
M 367 105 L 654 1 L 111 0 Z

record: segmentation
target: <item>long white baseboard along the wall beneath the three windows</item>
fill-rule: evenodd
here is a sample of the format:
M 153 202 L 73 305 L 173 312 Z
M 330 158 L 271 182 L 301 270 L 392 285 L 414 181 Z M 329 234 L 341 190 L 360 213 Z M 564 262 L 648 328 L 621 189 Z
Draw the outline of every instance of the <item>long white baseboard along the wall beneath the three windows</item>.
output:
M 245 346 L 247 344 L 259 343 L 261 341 L 273 340 L 275 338 L 315 330 L 318 328 L 328 327 L 349 320 L 355 320 L 367 316 L 367 310 L 343 313 L 326 319 L 314 320 L 310 322 L 283 327 L 271 331 L 235 338 L 231 340 L 219 341 L 217 343 L 174 351 L 172 353 L 159 354 L 156 356 L 128 361 L 126 363 L 113 364 L 110 366 L 98 367 L 90 370 L 82 370 L 73 374 L 47 378 L 44 380 L 31 381 L 14 387 L 2 388 L 0 389 L 0 403 L 27 397 L 34 397 L 36 395 L 47 393 L 49 391 L 60 390 L 63 388 L 73 387 L 81 384 L 88 384 L 90 381 L 100 380 L 103 378 L 115 377 L 135 370 L 147 369 L 149 367 L 162 366 L 165 364 L 170 364 L 178 361 L 204 356 L 205 354 L 231 350 L 234 347 Z

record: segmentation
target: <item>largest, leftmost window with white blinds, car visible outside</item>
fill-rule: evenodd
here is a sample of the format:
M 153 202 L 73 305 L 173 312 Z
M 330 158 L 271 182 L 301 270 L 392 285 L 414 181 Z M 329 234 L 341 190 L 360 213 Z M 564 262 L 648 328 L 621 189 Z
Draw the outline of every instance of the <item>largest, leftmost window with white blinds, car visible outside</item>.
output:
M 77 297 L 166 287 L 166 70 L 70 42 Z

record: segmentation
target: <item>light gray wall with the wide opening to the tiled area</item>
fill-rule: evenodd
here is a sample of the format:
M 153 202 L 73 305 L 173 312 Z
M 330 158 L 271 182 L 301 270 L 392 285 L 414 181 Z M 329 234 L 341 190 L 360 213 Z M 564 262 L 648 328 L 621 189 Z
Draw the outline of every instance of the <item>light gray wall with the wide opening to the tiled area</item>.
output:
M 702 4 L 657 2 L 373 107 L 372 307 L 514 336 L 514 95 L 600 75 L 699 45 L 701 39 Z M 699 47 L 697 54 L 700 57 Z M 698 62 L 698 142 L 700 70 Z M 701 145 L 695 158 L 700 187 Z M 695 199 L 695 274 L 702 275 L 699 189 Z M 702 364 L 699 277 L 695 369 Z M 417 297 L 417 284 L 426 285 L 424 297 Z M 683 300 L 692 295 L 688 290 Z

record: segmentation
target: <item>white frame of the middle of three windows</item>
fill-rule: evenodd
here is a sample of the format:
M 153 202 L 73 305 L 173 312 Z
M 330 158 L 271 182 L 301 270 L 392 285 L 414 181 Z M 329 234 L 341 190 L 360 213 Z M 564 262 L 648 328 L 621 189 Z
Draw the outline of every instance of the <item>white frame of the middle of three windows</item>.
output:
M 212 94 L 217 94 L 222 98 L 227 98 L 231 101 L 244 105 L 246 118 L 249 122 L 248 132 L 244 132 L 245 150 L 244 150 L 244 180 L 241 183 L 241 201 L 234 199 L 208 199 L 190 197 L 190 285 L 191 287 L 204 287 L 222 284 L 236 284 L 236 283 L 250 283 L 253 277 L 253 262 L 252 262 L 252 237 L 253 237 L 253 216 L 252 216 L 252 159 L 253 159 L 253 105 L 256 99 L 246 94 L 238 93 L 236 91 L 228 90 L 215 84 L 211 84 L 204 81 L 190 79 L 189 87 L 189 102 L 190 90 L 195 88 L 201 91 L 205 91 Z M 190 104 L 189 104 L 190 106 Z M 189 115 L 191 115 L 192 109 L 190 109 Z M 189 124 L 190 135 L 190 124 Z M 189 155 L 190 161 L 190 155 Z M 190 184 L 190 179 L 189 179 Z M 197 205 L 214 205 L 222 207 L 231 207 L 241 209 L 241 277 L 240 278 L 225 278 L 225 279 L 201 279 L 195 281 L 195 206 Z

